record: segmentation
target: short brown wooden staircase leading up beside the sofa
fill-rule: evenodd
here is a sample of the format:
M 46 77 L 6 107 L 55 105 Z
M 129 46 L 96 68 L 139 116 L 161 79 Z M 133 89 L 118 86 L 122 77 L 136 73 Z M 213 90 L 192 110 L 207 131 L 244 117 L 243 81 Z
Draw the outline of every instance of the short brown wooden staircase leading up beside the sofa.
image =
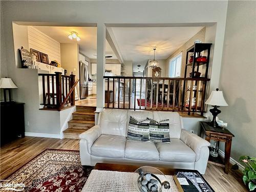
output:
M 94 112 L 96 106 L 76 106 L 73 119 L 69 121 L 69 128 L 63 131 L 64 138 L 78 139 L 79 135 L 95 124 Z

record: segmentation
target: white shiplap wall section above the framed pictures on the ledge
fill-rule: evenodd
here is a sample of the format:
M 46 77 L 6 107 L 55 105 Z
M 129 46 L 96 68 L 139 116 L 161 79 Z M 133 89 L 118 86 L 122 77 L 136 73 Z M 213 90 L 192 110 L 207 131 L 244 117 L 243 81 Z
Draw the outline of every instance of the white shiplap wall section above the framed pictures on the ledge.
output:
M 29 48 L 48 55 L 49 62 L 60 62 L 60 43 L 38 29 L 28 26 Z

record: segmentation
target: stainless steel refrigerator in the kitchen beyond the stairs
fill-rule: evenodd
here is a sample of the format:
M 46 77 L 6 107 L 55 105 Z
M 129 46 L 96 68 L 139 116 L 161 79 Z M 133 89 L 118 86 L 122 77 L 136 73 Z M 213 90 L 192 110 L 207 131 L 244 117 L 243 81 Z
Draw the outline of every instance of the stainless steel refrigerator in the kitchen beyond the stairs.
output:
M 79 84 L 80 84 L 80 99 L 88 97 L 88 77 L 89 77 L 89 63 L 79 62 Z

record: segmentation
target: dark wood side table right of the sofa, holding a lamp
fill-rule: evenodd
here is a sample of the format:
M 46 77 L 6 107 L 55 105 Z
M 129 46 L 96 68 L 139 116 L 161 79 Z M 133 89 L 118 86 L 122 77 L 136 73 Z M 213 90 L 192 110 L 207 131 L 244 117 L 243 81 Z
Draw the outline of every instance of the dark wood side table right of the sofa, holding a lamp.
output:
M 228 173 L 229 169 L 229 158 L 230 158 L 230 152 L 231 152 L 231 142 L 232 142 L 232 137 L 234 135 L 230 133 L 227 129 L 222 129 L 222 127 L 213 127 L 208 124 L 208 122 L 205 121 L 200 121 L 201 123 L 201 137 L 204 138 L 205 140 L 209 141 L 215 140 L 218 142 L 218 146 L 220 141 L 225 142 L 225 158 L 224 158 L 224 163 L 222 161 L 218 161 L 217 159 L 213 159 L 209 157 L 208 162 L 212 164 L 216 164 L 222 167 L 225 167 L 225 173 Z

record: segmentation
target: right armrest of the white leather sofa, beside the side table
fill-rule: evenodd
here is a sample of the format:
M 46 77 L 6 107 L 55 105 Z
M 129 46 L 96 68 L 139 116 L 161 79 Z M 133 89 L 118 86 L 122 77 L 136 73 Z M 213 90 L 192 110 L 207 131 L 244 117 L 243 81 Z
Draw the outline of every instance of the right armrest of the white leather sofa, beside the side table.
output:
M 201 149 L 210 146 L 210 143 L 194 133 L 181 130 L 180 139 L 196 153 L 196 161 L 199 160 Z

